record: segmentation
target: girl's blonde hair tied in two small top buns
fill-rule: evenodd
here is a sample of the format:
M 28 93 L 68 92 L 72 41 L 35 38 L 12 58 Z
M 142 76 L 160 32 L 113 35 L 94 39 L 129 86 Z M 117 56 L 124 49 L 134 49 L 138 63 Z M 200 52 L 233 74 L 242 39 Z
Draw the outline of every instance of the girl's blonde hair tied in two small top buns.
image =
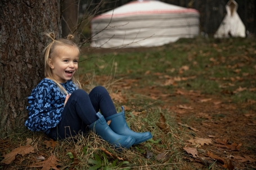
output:
M 53 76 L 52 69 L 48 65 L 48 59 L 53 58 L 56 56 L 56 47 L 57 46 L 68 46 L 68 47 L 75 47 L 78 49 L 78 45 L 72 42 L 72 39 L 74 38 L 73 35 L 68 35 L 67 39 L 55 39 L 55 34 L 54 33 L 44 33 L 44 35 L 48 36 L 51 38 L 52 42 L 47 44 L 46 48 L 43 50 L 43 55 L 44 55 L 44 76 L 51 79 L 56 83 L 57 86 L 59 86 L 60 90 L 64 92 L 65 94 L 68 94 L 68 92 L 63 88 L 63 86 L 55 80 L 55 77 Z M 77 85 L 79 89 L 81 89 L 80 82 L 75 78 L 75 76 L 72 76 L 73 83 Z

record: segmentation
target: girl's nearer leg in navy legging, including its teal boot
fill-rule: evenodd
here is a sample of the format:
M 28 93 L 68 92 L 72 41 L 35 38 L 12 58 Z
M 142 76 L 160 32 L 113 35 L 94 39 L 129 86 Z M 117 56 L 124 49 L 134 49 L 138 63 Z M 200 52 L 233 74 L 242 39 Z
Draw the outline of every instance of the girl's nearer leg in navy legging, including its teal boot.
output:
M 104 116 L 96 113 L 86 91 L 81 89 L 71 94 L 61 114 L 59 125 L 51 129 L 49 136 L 55 140 L 64 139 L 77 135 L 79 131 L 85 131 L 87 127 L 115 148 L 129 148 L 135 142 L 133 137 L 119 135 L 111 130 Z

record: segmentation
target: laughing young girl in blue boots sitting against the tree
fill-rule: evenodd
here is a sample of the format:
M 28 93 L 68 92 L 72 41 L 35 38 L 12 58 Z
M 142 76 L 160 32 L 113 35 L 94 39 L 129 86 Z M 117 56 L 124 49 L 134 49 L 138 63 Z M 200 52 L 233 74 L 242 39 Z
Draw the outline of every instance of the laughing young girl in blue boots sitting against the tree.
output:
M 152 137 L 150 132 L 133 132 L 125 121 L 124 108 L 116 113 L 109 93 L 102 86 L 89 94 L 81 89 L 74 74 L 78 70 L 79 48 L 68 39 L 55 40 L 44 49 L 45 78 L 32 90 L 25 126 L 44 131 L 54 140 L 91 129 L 115 148 L 129 148 Z M 101 111 L 101 113 L 99 112 Z M 111 120 L 110 125 L 106 121 Z

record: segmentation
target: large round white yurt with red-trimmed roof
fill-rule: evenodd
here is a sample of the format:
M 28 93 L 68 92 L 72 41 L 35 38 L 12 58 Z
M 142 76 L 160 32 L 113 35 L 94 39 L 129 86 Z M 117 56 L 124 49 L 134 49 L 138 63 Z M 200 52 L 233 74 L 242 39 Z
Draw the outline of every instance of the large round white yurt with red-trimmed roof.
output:
M 199 12 L 160 1 L 133 1 L 91 21 L 91 46 L 154 47 L 199 34 Z

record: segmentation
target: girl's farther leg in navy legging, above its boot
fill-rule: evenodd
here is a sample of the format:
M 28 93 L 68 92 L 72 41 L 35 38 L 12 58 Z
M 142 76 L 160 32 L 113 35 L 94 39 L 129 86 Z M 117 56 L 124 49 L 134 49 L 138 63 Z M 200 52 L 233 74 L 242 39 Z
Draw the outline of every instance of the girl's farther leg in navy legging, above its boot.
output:
M 96 86 L 93 88 L 89 93 L 89 98 L 91 99 L 95 111 L 101 111 L 101 114 L 104 117 L 108 117 L 116 113 L 115 105 L 104 87 Z

